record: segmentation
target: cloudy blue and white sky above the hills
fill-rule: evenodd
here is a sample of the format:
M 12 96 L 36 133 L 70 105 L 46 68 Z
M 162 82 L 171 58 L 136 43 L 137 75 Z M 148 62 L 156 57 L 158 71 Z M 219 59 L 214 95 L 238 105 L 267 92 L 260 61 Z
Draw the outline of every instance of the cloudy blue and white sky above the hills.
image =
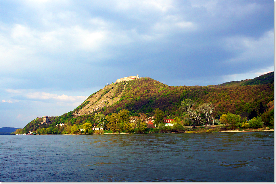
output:
M 271 71 L 273 1 L 0 1 L 0 127 L 60 116 L 125 76 L 206 86 Z

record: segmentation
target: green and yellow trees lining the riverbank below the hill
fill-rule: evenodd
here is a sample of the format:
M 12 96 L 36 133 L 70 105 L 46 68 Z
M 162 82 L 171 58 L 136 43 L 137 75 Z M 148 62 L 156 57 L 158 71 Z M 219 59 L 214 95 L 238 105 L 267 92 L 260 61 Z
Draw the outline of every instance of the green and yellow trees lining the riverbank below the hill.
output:
M 214 119 L 212 112 L 216 106 L 210 102 L 204 104 L 196 104 L 191 99 L 181 101 L 180 111 L 183 116 L 174 117 L 171 122 L 173 126 L 166 126 L 164 123 L 165 113 L 156 108 L 154 110 L 154 118 L 151 119 L 153 124 L 149 124 L 150 118 L 144 113 L 138 116 L 130 115 L 129 110 L 122 109 L 118 113 L 112 113 L 105 116 L 102 113 L 95 114 L 86 119 L 83 124 L 74 124 L 68 121 L 63 126 L 55 126 L 50 124 L 48 128 L 37 129 L 37 134 L 92 134 L 104 133 L 109 130 L 116 133 L 163 133 L 163 132 L 184 132 L 185 126 L 195 126 L 208 124 L 222 124 L 224 130 L 233 129 L 256 129 L 262 127 L 274 127 L 274 109 L 264 111 L 262 114 L 253 117 L 249 121 L 245 117 L 228 112 L 223 114 L 219 119 Z M 152 126 L 153 125 L 153 126 Z M 93 127 L 99 127 L 99 130 L 93 130 Z

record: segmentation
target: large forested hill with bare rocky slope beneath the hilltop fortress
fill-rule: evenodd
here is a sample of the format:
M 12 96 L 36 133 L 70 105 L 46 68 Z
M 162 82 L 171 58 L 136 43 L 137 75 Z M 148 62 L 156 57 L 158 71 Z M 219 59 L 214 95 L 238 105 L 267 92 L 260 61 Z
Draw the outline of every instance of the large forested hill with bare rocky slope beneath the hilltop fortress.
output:
M 168 86 L 151 78 L 112 83 L 90 95 L 74 110 L 49 119 L 53 125 L 83 124 L 87 120 L 95 122 L 95 113 L 108 115 L 123 108 L 129 110 L 130 115 L 138 116 L 142 112 L 148 117 L 152 117 L 154 109 L 159 108 L 165 112 L 167 118 L 181 118 L 183 112 L 180 103 L 187 98 L 197 104 L 207 101 L 215 104 L 215 118 L 227 112 L 244 117 L 248 117 L 250 113 L 258 115 L 264 110 L 274 108 L 274 71 L 250 80 L 204 87 Z M 47 126 L 37 125 L 41 120 L 37 118 L 31 121 L 24 127 L 24 131 L 30 131 L 34 126 Z

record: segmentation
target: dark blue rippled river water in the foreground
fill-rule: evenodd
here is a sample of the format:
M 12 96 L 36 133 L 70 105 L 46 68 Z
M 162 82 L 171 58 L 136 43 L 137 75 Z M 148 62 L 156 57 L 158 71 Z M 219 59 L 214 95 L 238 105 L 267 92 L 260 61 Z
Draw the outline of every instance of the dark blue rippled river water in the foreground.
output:
M 0 182 L 274 182 L 274 132 L 0 135 Z

